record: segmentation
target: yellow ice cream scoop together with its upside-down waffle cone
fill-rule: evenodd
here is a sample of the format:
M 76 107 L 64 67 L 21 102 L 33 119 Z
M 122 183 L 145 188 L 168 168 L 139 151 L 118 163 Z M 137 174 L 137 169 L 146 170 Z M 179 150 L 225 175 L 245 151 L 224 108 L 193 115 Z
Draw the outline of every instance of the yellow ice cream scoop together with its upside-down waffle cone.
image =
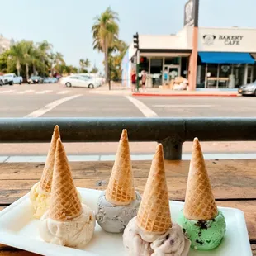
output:
M 50 205 L 50 189 L 55 164 L 55 150 L 59 138 L 59 126 L 55 126 L 40 182 L 31 188 L 30 199 L 36 219 L 40 219 Z

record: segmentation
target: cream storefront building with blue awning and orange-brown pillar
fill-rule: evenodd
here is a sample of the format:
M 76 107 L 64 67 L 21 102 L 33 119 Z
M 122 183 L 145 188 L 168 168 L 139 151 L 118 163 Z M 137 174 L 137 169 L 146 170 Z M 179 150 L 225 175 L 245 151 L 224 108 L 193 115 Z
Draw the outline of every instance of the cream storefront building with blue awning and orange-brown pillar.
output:
M 192 11 L 187 2 L 185 12 Z M 256 80 L 256 29 L 193 26 L 192 15 L 177 35 L 139 35 L 140 71 L 148 73 L 148 87 L 158 87 L 182 76 L 189 89 L 238 88 Z M 130 87 L 137 50 L 131 44 L 122 65 Z M 127 75 L 128 74 L 128 75 Z

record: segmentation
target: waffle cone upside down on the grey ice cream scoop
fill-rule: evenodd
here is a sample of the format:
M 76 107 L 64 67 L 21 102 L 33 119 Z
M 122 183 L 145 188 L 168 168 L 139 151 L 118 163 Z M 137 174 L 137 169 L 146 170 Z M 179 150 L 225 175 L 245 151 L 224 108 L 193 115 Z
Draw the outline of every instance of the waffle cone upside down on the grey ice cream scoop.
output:
M 123 130 L 106 190 L 106 199 L 116 206 L 125 206 L 135 198 L 128 135 L 127 130 Z

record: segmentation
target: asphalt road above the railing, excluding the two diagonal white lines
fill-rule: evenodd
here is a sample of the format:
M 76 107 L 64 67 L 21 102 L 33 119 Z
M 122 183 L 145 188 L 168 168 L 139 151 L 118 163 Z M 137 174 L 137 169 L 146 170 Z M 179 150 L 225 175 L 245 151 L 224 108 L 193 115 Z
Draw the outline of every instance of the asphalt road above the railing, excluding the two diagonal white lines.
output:
M 143 117 L 150 116 L 149 111 L 160 117 L 256 116 L 255 97 L 135 97 L 143 103 L 143 112 L 129 96 L 93 90 L 59 84 L 4 86 L 0 88 L 0 117 L 24 117 L 52 103 L 41 117 Z

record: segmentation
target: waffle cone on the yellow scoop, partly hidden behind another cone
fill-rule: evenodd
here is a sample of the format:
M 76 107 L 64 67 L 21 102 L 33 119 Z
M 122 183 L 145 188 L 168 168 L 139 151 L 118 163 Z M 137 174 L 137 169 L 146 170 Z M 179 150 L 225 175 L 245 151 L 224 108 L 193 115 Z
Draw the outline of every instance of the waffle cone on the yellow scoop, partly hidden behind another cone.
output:
M 60 138 L 59 126 L 55 126 L 54 133 L 50 141 L 50 149 L 47 154 L 45 161 L 45 167 L 43 170 L 42 177 L 40 179 L 40 188 L 44 192 L 50 192 L 51 182 L 53 178 L 54 165 L 55 165 L 55 150 L 57 145 L 57 140 Z

